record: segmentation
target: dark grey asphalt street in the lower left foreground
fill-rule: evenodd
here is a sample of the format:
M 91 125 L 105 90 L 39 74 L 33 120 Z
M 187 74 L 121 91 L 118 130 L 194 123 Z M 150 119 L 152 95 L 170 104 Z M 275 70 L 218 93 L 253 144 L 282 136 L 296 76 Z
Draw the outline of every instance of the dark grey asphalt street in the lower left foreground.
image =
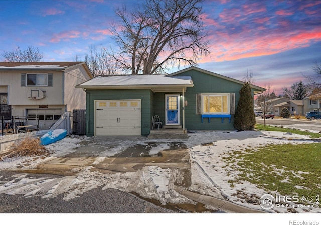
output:
M 12 179 L 15 172 L 0 171 L 0 184 Z M 39 178 L 44 174 L 28 174 Z M 46 174 L 46 177 L 60 176 Z M 63 194 L 56 198 L 45 199 L 40 196 L 0 194 L 0 213 L 178 213 L 158 207 L 133 194 L 116 189 L 94 188 L 69 201 Z

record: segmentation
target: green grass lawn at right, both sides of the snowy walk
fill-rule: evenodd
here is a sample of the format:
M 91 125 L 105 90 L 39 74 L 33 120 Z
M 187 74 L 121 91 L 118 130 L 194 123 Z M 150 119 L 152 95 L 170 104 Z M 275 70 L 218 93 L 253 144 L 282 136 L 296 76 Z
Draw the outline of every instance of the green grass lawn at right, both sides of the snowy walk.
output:
M 257 129 L 311 135 L 313 138 L 320 136 L 300 130 L 262 127 L 256 125 Z M 238 178 L 230 180 L 231 187 L 246 180 L 268 193 L 276 191 L 280 195 L 311 197 L 321 192 L 320 142 L 262 145 L 232 151 L 223 159 L 238 172 Z

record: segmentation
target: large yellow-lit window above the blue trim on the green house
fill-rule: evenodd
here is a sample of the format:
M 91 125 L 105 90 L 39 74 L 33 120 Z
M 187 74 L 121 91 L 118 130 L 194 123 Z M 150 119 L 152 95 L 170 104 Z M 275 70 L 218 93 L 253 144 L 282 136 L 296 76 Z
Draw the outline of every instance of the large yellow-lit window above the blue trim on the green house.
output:
M 202 94 L 202 114 L 229 114 L 229 94 Z

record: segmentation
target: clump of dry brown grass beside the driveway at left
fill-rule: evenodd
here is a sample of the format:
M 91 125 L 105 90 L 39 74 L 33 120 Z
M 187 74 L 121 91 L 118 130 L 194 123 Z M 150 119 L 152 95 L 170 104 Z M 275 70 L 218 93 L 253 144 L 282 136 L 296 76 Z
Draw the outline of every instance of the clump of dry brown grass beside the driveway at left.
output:
M 20 156 L 41 156 L 48 155 L 49 151 L 40 145 L 39 139 L 29 139 L 21 141 L 19 144 L 13 144 L 11 149 L 0 155 L 0 159 L 13 158 Z

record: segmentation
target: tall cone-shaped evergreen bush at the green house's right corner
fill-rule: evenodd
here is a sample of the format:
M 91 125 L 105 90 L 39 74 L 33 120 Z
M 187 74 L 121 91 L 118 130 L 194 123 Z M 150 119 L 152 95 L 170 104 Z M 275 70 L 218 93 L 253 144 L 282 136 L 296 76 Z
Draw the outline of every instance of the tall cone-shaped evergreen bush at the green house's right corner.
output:
M 238 131 L 254 130 L 255 114 L 251 86 L 244 83 L 240 90 L 240 99 L 234 116 L 234 127 Z

